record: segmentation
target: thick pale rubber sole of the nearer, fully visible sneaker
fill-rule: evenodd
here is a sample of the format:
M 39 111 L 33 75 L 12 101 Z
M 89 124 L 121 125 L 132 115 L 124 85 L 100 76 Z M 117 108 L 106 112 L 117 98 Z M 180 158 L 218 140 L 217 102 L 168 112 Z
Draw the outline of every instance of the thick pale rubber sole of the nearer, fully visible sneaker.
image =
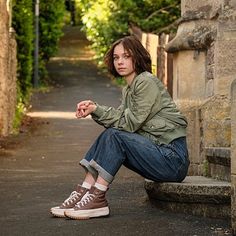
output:
M 94 217 L 104 217 L 110 214 L 109 207 L 102 207 L 98 209 L 89 210 L 66 210 L 65 216 L 74 220 L 88 220 Z

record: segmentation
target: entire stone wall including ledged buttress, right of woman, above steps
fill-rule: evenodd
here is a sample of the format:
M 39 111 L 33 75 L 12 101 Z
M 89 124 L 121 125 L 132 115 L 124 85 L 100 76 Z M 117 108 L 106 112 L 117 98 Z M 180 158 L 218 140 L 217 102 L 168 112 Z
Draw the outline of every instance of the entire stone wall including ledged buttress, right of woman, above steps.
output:
M 189 120 L 190 175 L 206 175 L 205 149 L 231 145 L 230 86 L 236 74 L 236 1 L 182 0 L 173 97 Z

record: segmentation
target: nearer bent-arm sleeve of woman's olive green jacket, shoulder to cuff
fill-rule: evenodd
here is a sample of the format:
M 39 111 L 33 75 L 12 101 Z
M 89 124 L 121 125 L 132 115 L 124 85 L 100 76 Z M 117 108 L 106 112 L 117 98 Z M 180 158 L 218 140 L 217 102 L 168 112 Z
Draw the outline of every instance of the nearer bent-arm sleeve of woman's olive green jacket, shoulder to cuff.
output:
M 150 116 L 154 104 L 160 102 L 160 92 L 152 79 L 141 79 L 135 82 L 133 91 L 127 90 L 130 99 L 128 107 L 124 107 L 123 93 L 123 104 L 118 109 L 98 105 L 92 115 L 95 121 L 105 127 L 129 132 L 140 129 Z

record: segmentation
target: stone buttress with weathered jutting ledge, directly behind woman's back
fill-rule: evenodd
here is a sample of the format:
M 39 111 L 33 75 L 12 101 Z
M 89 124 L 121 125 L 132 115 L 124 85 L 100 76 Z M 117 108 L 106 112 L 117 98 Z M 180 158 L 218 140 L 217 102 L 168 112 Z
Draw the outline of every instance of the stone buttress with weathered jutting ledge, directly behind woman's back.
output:
M 220 1 L 182 0 L 177 34 L 166 46 L 169 53 L 174 53 L 173 98 L 189 123 L 189 175 L 203 175 L 207 170 L 202 108 L 206 99 L 214 95 L 214 41 L 219 9 Z

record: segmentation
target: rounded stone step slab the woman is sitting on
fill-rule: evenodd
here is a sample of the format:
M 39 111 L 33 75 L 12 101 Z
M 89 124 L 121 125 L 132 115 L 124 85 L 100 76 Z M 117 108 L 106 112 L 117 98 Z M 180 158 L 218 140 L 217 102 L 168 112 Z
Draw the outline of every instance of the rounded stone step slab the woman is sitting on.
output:
M 182 183 L 145 180 L 150 198 L 184 203 L 230 204 L 231 184 L 204 176 L 187 176 Z

